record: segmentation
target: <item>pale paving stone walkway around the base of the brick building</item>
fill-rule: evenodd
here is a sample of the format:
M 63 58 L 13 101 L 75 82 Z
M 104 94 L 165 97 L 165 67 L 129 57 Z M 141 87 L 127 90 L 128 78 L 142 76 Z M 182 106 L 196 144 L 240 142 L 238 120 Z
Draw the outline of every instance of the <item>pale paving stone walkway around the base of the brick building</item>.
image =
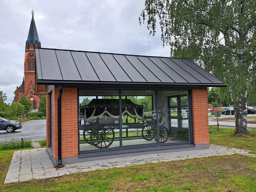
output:
M 5 183 L 28 181 L 31 179 L 46 179 L 80 172 L 90 172 L 96 169 L 125 167 L 149 162 L 156 163 L 232 154 L 242 154 L 256 157 L 256 155 L 249 154 L 246 150 L 228 148 L 220 145 L 210 145 L 210 148 L 207 150 L 157 153 L 150 155 L 87 161 L 66 164 L 61 168 L 55 168 L 48 154 L 46 153 L 45 148 L 33 148 L 32 150 L 14 152 Z

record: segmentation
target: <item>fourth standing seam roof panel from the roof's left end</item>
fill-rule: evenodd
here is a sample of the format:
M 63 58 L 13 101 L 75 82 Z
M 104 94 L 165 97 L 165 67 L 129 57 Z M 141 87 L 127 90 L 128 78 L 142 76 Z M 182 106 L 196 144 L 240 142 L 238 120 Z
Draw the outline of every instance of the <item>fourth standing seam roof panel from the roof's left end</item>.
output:
M 100 81 L 116 81 L 98 53 L 86 53 Z

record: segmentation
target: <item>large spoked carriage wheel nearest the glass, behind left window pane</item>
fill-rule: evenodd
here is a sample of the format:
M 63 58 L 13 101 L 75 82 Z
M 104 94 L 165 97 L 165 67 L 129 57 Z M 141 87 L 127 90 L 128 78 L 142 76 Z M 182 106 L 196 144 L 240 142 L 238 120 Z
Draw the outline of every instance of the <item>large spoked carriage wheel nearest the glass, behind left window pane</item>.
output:
M 94 146 L 97 148 L 105 148 L 113 143 L 115 132 L 108 124 L 98 124 L 93 127 L 90 138 Z

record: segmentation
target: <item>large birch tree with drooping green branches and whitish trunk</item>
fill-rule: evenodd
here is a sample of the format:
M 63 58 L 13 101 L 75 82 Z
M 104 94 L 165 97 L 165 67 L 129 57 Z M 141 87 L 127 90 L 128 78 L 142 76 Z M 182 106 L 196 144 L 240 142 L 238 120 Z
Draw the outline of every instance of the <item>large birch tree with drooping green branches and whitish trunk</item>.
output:
M 256 71 L 256 1 L 146 0 L 139 22 L 157 22 L 170 54 L 194 60 L 225 81 L 236 112 L 236 134 L 247 130 L 247 91 Z

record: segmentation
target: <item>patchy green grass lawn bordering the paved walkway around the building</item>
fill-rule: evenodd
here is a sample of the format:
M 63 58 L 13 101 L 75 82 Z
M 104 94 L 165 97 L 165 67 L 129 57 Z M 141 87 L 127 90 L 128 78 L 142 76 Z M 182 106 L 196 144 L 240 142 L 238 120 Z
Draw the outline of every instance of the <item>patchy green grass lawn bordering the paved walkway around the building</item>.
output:
M 255 152 L 251 136 L 232 135 L 234 129 L 210 127 L 210 143 Z M 124 168 L 96 170 L 57 178 L 3 184 L 13 151 L 0 151 L 0 191 L 255 191 L 256 158 L 215 156 Z

